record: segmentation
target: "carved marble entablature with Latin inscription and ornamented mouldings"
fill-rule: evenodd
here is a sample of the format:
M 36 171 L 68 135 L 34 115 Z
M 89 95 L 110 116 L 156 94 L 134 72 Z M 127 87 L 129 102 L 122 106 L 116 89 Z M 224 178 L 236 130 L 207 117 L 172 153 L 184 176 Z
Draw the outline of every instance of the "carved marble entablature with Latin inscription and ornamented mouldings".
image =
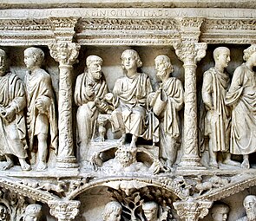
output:
M 0 45 L 49 45 L 73 36 L 81 45 L 174 45 L 182 36 L 250 44 L 256 42 L 255 15 L 242 9 L 0 10 Z

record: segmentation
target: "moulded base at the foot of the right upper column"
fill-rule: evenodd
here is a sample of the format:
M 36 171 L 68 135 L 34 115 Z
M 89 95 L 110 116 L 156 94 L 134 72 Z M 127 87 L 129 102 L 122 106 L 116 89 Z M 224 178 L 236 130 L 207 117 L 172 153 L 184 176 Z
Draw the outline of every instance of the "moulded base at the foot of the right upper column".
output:
M 207 167 L 202 166 L 199 157 L 181 158 L 181 163 L 177 166 L 176 171 L 198 171 L 207 170 Z

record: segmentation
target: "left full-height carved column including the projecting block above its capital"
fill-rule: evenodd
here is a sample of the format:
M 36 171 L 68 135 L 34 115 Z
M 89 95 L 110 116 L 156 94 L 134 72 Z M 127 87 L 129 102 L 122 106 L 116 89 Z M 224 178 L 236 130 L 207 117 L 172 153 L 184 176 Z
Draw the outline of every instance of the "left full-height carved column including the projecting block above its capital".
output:
M 77 62 L 80 45 L 72 42 L 75 35 L 75 18 L 51 18 L 56 42 L 49 45 L 50 55 L 59 62 L 59 147 L 57 151 L 56 167 L 77 167 L 74 155 L 74 141 L 72 133 L 72 81 L 73 64 Z

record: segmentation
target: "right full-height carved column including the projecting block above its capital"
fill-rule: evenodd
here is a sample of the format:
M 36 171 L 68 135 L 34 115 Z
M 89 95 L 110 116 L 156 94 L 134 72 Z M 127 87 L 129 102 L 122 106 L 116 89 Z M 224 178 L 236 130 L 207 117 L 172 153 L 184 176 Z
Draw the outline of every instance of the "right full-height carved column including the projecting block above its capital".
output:
M 180 170 L 205 169 L 200 164 L 197 129 L 196 63 L 206 55 L 207 43 L 198 42 L 202 18 L 182 18 L 181 42 L 174 45 L 185 70 L 184 153 Z

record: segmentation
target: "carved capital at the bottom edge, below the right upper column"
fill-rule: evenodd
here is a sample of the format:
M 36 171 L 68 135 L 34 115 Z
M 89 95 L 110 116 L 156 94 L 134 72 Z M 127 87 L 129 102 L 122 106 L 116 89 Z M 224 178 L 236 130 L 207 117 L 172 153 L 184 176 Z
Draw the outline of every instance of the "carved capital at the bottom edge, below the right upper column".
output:
M 210 201 L 180 201 L 174 202 L 177 214 L 184 221 L 197 221 L 207 216 L 209 208 L 213 205 Z

